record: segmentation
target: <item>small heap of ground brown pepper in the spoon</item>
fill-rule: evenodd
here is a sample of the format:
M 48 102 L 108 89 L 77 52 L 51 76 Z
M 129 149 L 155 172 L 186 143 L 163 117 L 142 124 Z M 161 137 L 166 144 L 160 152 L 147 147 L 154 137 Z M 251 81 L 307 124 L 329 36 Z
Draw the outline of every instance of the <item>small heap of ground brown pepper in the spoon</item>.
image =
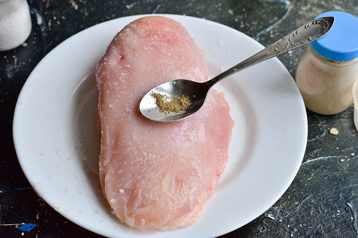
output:
M 191 102 L 189 97 L 184 95 L 167 96 L 157 93 L 152 93 L 151 96 L 155 99 L 155 105 L 158 107 L 159 112 L 165 113 L 179 113 L 187 109 Z

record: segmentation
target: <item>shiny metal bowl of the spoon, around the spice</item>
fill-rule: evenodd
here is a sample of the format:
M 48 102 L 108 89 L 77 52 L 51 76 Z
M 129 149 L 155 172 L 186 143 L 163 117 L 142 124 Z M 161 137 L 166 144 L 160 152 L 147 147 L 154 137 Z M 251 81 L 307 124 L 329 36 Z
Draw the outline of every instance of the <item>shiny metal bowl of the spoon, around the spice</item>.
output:
M 198 83 L 187 79 L 175 79 L 156 86 L 144 95 L 139 104 L 139 110 L 144 117 L 154 121 L 178 121 L 194 115 L 203 107 L 209 89 L 210 87 L 206 82 Z M 153 93 L 167 95 L 169 97 L 185 95 L 189 98 L 191 104 L 188 108 L 179 113 L 171 112 L 165 114 L 159 112 L 155 104 L 155 99 L 152 96 Z

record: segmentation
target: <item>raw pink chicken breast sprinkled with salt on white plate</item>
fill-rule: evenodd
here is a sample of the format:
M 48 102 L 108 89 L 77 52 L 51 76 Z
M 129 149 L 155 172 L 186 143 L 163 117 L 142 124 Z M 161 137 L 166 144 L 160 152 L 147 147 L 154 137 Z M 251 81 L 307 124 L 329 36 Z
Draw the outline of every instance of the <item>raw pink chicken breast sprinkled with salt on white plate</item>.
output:
M 202 50 L 179 23 L 145 17 L 119 32 L 96 66 L 102 139 L 100 177 L 113 212 L 130 227 L 194 224 L 229 159 L 233 120 L 222 93 L 177 122 L 140 115 L 140 99 L 178 78 L 203 82 Z

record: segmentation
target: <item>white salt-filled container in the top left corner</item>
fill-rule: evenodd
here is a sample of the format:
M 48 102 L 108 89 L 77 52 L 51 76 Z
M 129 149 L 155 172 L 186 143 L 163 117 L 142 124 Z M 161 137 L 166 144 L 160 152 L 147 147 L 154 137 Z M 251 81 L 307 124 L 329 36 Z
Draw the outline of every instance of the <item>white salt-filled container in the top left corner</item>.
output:
M 0 51 L 23 44 L 31 32 L 26 0 L 0 0 Z

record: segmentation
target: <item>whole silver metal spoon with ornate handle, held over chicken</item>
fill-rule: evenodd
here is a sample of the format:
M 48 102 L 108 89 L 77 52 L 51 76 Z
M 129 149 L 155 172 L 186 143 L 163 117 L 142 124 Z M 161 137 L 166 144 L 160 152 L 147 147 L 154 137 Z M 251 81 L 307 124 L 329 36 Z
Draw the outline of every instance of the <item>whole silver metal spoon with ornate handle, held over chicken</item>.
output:
M 159 122 L 178 121 L 188 118 L 203 107 L 210 88 L 220 80 L 264 60 L 275 57 L 283 52 L 304 46 L 321 38 L 330 31 L 333 23 L 333 17 L 312 20 L 281 38 L 274 44 L 204 83 L 198 83 L 187 79 L 175 79 L 160 84 L 143 96 L 139 103 L 139 111 L 144 117 Z M 152 96 L 153 93 L 167 95 L 169 97 L 185 95 L 189 97 L 191 105 L 179 113 L 161 113 L 155 105 L 155 99 Z

